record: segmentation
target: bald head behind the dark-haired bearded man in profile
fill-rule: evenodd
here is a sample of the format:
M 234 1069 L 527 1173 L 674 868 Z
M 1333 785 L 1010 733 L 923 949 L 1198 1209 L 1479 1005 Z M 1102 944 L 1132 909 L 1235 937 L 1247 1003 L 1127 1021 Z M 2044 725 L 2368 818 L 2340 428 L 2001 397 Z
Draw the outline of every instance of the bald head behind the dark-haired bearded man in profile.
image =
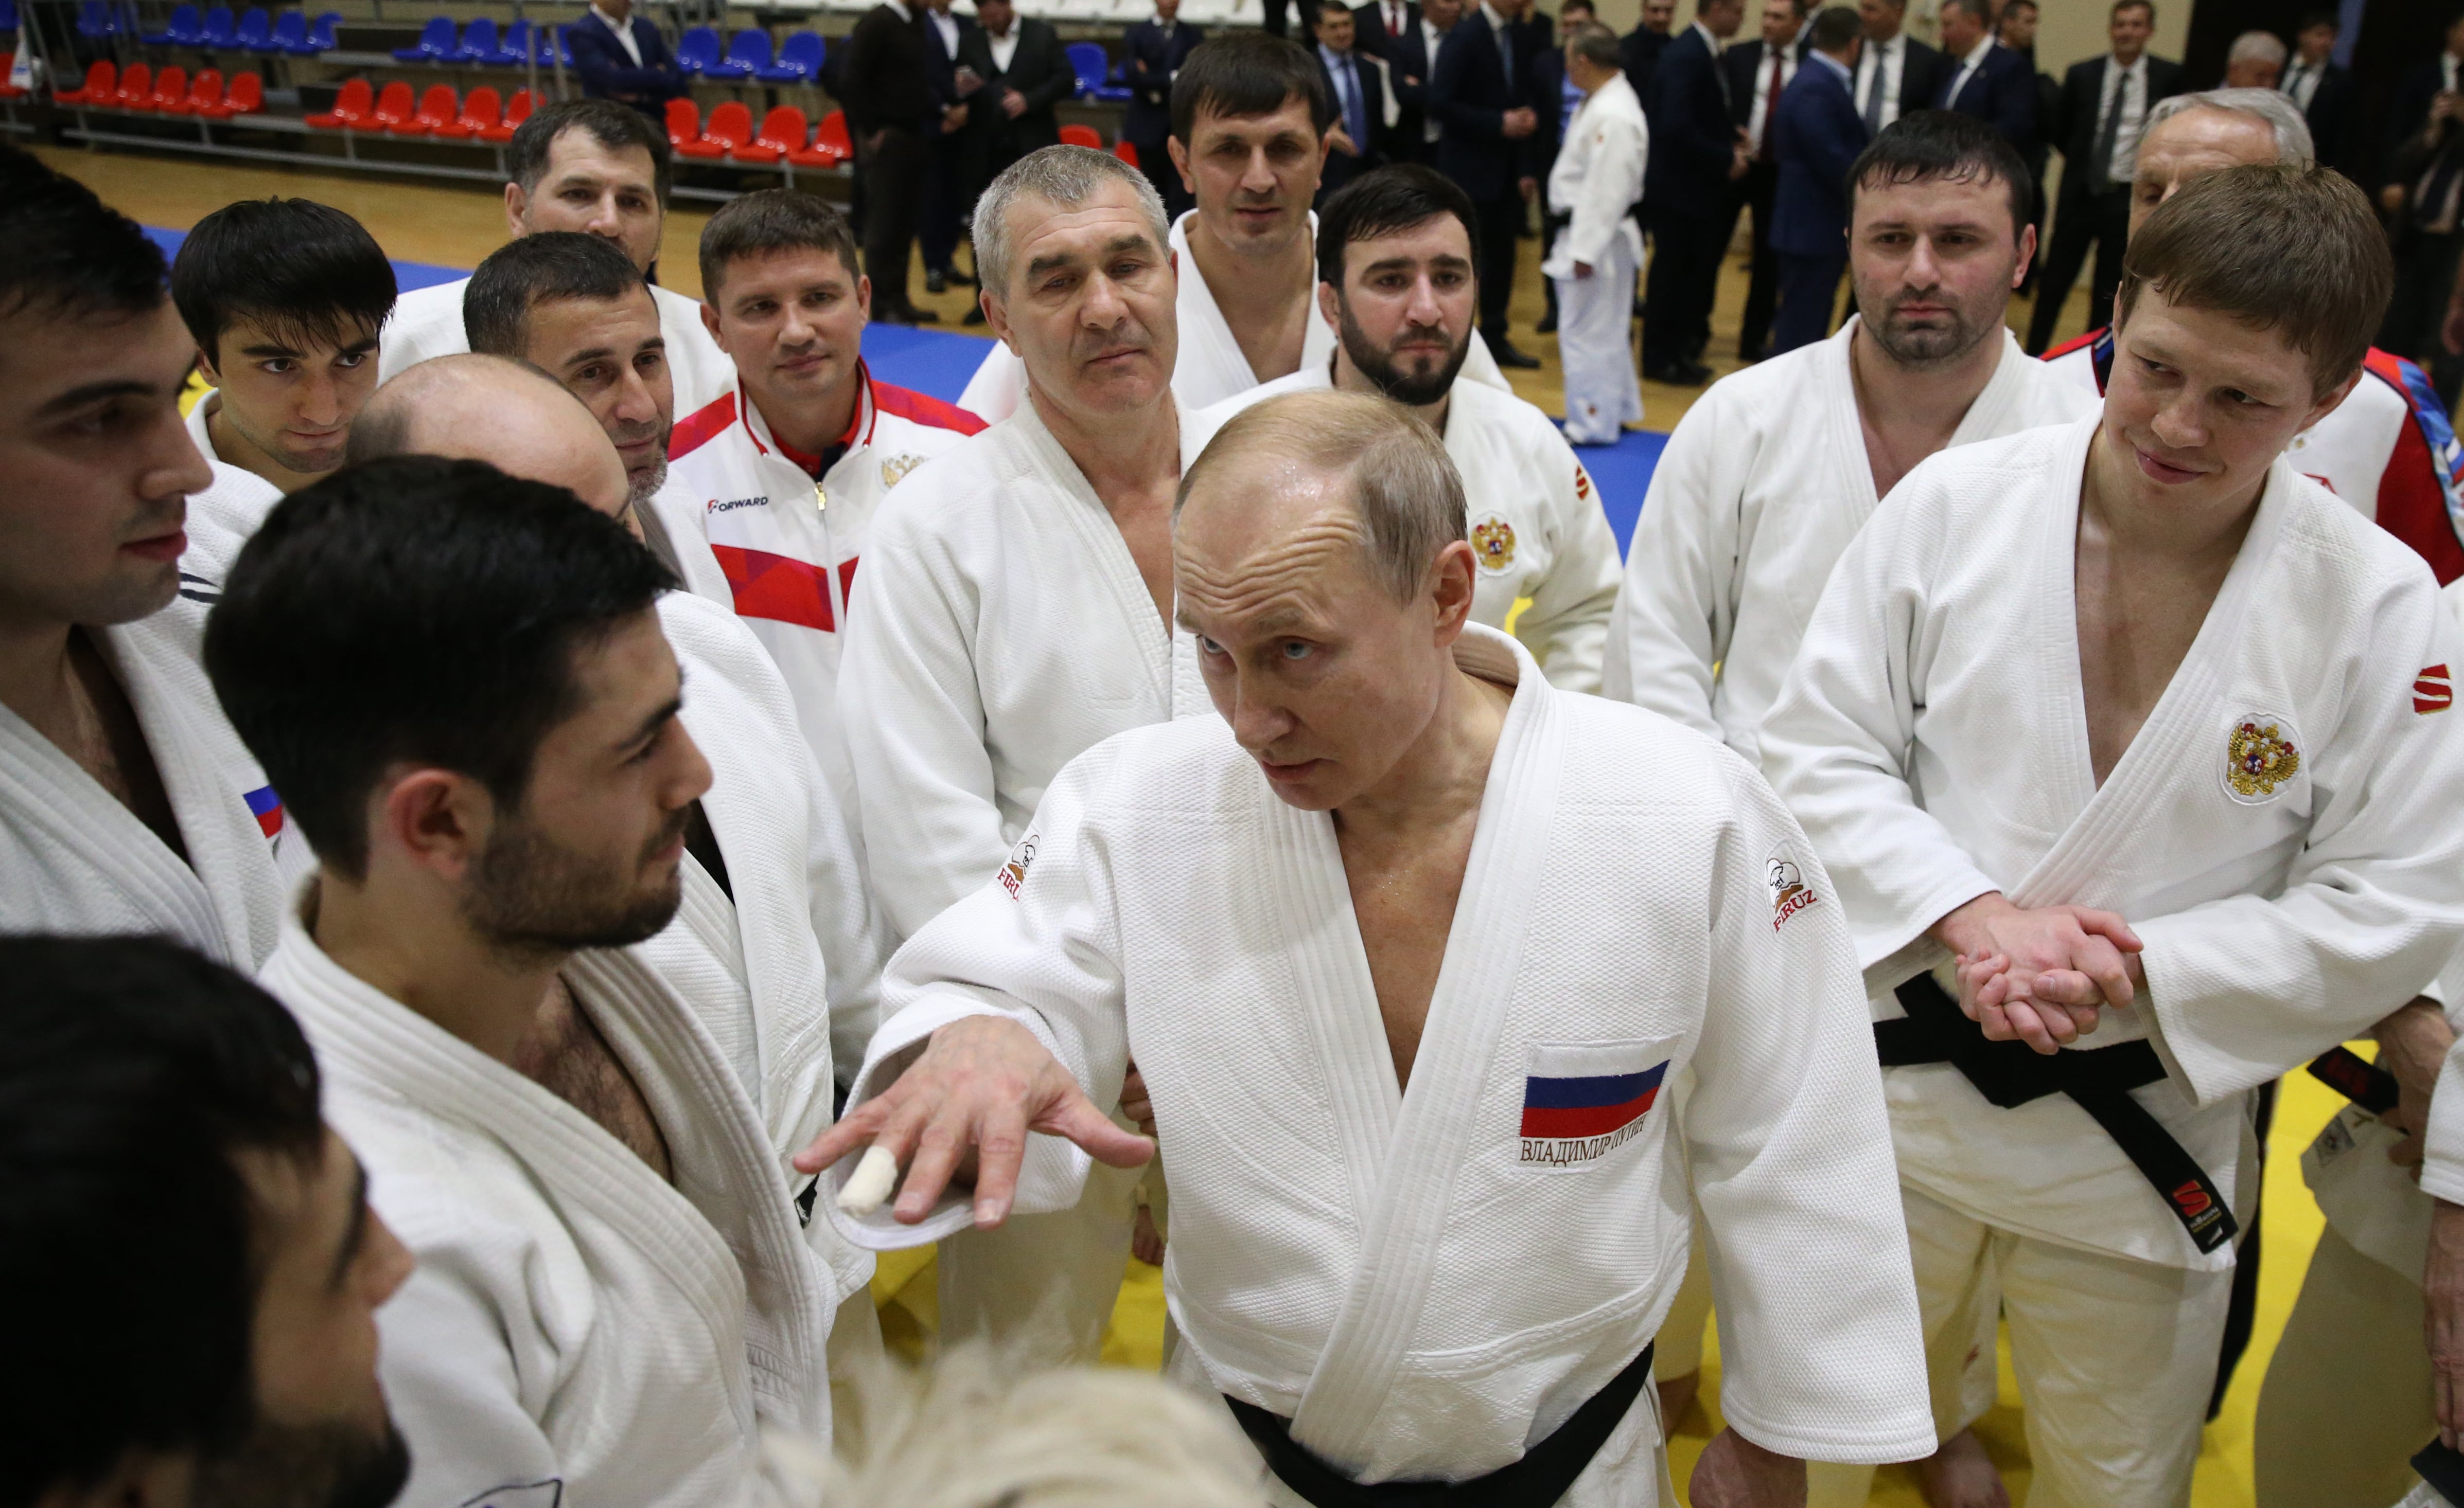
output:
M 567 488 L 609 517 L 628 517 L 623 456 L 599 419 L 554 377 L 493 355 L 448 355 L 407 367 L 367 399 L 350 461 L 446 456 Z

